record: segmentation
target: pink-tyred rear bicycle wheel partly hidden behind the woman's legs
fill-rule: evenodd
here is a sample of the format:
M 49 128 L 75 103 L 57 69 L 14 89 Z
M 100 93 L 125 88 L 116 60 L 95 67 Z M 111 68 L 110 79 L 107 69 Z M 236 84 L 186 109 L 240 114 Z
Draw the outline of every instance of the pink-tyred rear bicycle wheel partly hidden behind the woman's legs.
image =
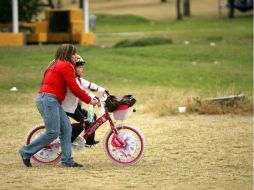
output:
M 38 138 L 43 132 L 45 132 L 45 126 L 43 124 L 32 128 L 27 135 L 26 145 L 30 144 L 33 140 Z M 61 146 L 59 138 L 55 139 L 45 148 L 32 156 L 32 160 L 39 164 L 56 164 L 61 159 Z

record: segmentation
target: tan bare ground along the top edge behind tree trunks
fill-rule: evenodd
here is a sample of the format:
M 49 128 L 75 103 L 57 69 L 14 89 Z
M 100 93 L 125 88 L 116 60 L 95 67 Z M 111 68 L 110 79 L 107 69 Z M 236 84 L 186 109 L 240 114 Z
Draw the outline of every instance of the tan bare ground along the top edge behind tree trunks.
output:
M 77 8 L 78 1 L 72 4 L 71 0 L 62 0 L 66 8 Z M 227 0 L 191 0 L 191 15 L 219 16 L 219 4 L 225 4 Z M 91 14 L 126 15 L 132 14 L 151 20 L 172 20 L 176 18 L 176 1 L 168 0 L 161 3 L 160 0 L 90 0 L 89 8 Z M 236 12 L 238 14 L 238 12 Z M 221 9 L 221 15 L 227 15 L 227 9 Z

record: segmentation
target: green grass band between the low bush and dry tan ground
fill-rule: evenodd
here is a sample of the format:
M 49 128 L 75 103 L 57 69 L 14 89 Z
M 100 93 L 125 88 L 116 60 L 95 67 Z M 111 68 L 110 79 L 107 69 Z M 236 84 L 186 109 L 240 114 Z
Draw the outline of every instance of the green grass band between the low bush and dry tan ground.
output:
M 38 88 L 55 49 L 56 46 L 24 47 L 3 54 L 0 58 L 2 88 Z M 201 90 L 235 86 L 238 91 L 252 90 L 251 49 L 240 45 L 217 43 L 216 47 L 210 47 L 206 42 L 106 50 L 79 47 L 79 53 L 88 61 L 87 78 L 105 85 Z

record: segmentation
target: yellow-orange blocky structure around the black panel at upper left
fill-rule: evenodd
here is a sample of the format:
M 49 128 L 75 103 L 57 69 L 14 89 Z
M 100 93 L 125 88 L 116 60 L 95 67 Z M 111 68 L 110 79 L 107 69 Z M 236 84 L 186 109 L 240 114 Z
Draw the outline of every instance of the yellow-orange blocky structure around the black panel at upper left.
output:
M 0 46 L 22 46 L 28 43 L 54 43 L 54 42 L 76 42 L 80 45 L 94 45 L 94 34 L 83 32 L 82 9 L 59 9 L 53 11 L 70 12 L 70 31 L 68 33 L 49 33 L 49 14 L 52 10 L 45 12 L 45 20 L 34 23 L 19 23 L 20 28 L 31 29 L 31 33 L 1 33 Z M 1 27 L 1 24 L 0 24 Z M 2 27 L 6 27 L 3 25 Z M 11 25 L 9 26 L 11 27 Z M 26 40 L 24 40 L 26 39 Z

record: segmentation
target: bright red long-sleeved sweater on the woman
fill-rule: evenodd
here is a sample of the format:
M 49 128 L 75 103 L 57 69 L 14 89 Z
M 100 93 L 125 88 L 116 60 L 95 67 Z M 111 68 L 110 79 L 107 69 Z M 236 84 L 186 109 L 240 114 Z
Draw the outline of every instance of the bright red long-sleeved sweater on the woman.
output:
M 85 103 L 90 103 L 91 97 L 82 90 L 76 81 L 74 66 L 67 61 L 57 60 L 45 73 L 40 93 L 50 93 L 62 103 L 67 87 Z

